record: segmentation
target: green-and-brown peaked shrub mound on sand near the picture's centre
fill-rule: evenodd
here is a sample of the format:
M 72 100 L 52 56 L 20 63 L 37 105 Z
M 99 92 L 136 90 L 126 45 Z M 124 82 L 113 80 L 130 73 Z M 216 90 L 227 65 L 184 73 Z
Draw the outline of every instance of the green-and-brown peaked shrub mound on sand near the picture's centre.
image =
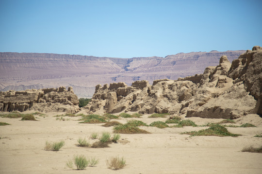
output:
M 136 126 L 126 123 L 124 125 L 116 126 L 114 128 L 114 133 L 136 134 L 136 133 L 150 133 L 150 132 L 141 130 Z

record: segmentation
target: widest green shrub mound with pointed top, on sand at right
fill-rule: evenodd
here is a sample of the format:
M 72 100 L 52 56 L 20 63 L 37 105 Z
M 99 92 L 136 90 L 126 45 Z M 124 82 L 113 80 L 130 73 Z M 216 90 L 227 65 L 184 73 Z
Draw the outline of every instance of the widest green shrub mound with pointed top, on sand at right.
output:
M 227 128 L 219 124 L 210 124 L 210 128 L 200 131 L 182 132 L 190 136 L 239 136 L 239 134 L 230 133 Z

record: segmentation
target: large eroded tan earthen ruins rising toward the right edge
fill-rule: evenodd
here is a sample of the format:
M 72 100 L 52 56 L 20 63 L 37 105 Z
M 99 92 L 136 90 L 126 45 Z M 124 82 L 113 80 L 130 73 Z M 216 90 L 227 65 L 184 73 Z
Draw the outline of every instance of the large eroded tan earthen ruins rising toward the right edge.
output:
M 237 118 L 250 113 L 262 114 L 256 105 L 262 95 L 262 48 L 254 46 L 229 62 L 222 56 L 219 65 L 207 67 L 203 74 L 178 80 L 145 80 L 96 86 L 88 113 L 139 112 Z M 256 110 L 256 111 L 254 111 Z

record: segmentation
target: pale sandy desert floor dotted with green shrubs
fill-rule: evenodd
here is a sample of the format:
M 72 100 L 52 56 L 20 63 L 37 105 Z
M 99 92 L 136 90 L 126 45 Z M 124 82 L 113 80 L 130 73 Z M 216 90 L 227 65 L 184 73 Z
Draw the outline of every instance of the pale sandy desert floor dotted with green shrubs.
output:
M 32 113 L 26 112 L 26 113 Z M 238 137 L 195 136 L 180 134 L 208 127 L 164 128 L 140 127 L 151 134 L 121 134 L 118 143 L 108 148 L 78 147 L 78 138 L 90 143 L 93 132 L 113 133 L 113 127 L 103 124 L 80 124 L 78 117 L 64 116 L 65 121 L 53 117 L 64 113 L 46 113 L 36 116 L 38 121 L 21 121 L 21 118 L 2 118 L 0 122 L 11 125 L 0 126 L 0 174 L 262 174 L 262 154 L 241 152 L 244 147 L 262 145 L 262 118 L 247 115 L 236 119 L 235 125 L 251 123 L 256 128 L 227 128 Z M 166 118 L 141 118 L 147 124 L 164 121 Z M 125 123 L 131 118 L 121 118 Z M 191 119 L 197 125 L 219 122 L 223 119 Z M 65 141 L 59 151 L 44 150 L 46 141 Z M 96 167 L 86 170 L 66 168 L 66 162 L 83 154 L 87 159 L 99 159 Z M 107 168 L 106 160 L 124 157 L 126 166 L 120 170 Z

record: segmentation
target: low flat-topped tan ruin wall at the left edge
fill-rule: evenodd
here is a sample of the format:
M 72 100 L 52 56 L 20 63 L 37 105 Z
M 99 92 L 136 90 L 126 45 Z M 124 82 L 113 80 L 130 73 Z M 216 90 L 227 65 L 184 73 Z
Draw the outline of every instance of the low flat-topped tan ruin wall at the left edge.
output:
M 75 113 L 79 111 L 78 104 L 78 97 L 72 87 L 67 90 L 66 87 L 59 87 L 0 92 L 1 112 L 34 109 L 40 112 Z

